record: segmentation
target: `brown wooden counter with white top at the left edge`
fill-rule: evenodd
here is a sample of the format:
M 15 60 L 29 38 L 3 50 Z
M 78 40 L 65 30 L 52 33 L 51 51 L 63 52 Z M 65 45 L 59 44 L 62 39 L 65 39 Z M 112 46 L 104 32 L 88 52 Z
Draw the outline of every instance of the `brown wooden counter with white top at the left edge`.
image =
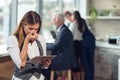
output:
M 11 80 L 14 64 L 8 54 L 7 44 L 0 44 L 0 80 Z

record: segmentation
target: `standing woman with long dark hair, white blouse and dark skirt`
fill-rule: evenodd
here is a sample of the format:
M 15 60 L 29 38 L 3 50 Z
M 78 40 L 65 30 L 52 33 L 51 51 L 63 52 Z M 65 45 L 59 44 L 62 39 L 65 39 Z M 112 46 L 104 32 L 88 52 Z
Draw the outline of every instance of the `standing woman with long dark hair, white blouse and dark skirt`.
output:
M 75 49 L 75 54 L 77 58 L 77 64 L 78 67 L 73 69 L 73 78 L 74 80 L 80 80 L 80 54 L 82 53 L 82 34 L 83 34 L 83 24 L 81 23 L 81 17 L 78 11 L 74 11 L 72 16 L 72 23 L 70 24 L 69 29 L 71 30 L 73 34 L 73 40 L 74 40 L 74 49 Z M 83 74 L 83 73 L 82 73 Z M 82 77 L 84 77 L 82 75 Z

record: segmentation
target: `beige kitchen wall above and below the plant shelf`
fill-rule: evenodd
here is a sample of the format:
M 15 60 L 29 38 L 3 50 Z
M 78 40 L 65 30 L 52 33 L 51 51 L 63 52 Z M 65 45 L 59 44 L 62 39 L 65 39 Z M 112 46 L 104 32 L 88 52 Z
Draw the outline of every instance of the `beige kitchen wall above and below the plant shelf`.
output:
M 107 18 L 96 19 L 92 23 L 92 31 L 96 37 L 105 38 L 107 35 L 120 35 L 120 0 L 89 0 L 88 1 L 88 14 L 90 6 L 94 6 L 98 12 L 99 17 L 102 10 L 110 10 Z M 109 18 L 109 17 L 117 18 Z M 119 17 L 119 18 L 118 18 Z

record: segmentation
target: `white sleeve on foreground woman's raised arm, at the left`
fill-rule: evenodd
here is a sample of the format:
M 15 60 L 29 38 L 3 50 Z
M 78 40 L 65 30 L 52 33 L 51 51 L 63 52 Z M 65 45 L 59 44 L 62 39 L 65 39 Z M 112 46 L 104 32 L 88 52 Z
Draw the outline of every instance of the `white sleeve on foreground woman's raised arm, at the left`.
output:
M 21 65 L 21 59 L 19 56 L 20 49 L 18 47 L 18 40 L 14 35 L 8 37 L 7 47 L 8 53 L 10 54 L 12 61 L 20 69 Z

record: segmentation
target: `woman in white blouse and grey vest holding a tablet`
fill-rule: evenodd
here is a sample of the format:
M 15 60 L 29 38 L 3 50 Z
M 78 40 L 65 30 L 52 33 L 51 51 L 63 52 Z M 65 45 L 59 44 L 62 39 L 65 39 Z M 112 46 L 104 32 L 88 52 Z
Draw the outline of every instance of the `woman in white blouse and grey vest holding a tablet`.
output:
M 49 67 L 50 60 L 41 63 L 29 61 L 41 55 L 46 55 L 46 42 L 39 35 L 41 18 L 34 12 L 27 12 L 20 21 L 16 31 L 8 38 L 8 52 L 15 64 L 13 80 L 44 80 L 41 69 Z

